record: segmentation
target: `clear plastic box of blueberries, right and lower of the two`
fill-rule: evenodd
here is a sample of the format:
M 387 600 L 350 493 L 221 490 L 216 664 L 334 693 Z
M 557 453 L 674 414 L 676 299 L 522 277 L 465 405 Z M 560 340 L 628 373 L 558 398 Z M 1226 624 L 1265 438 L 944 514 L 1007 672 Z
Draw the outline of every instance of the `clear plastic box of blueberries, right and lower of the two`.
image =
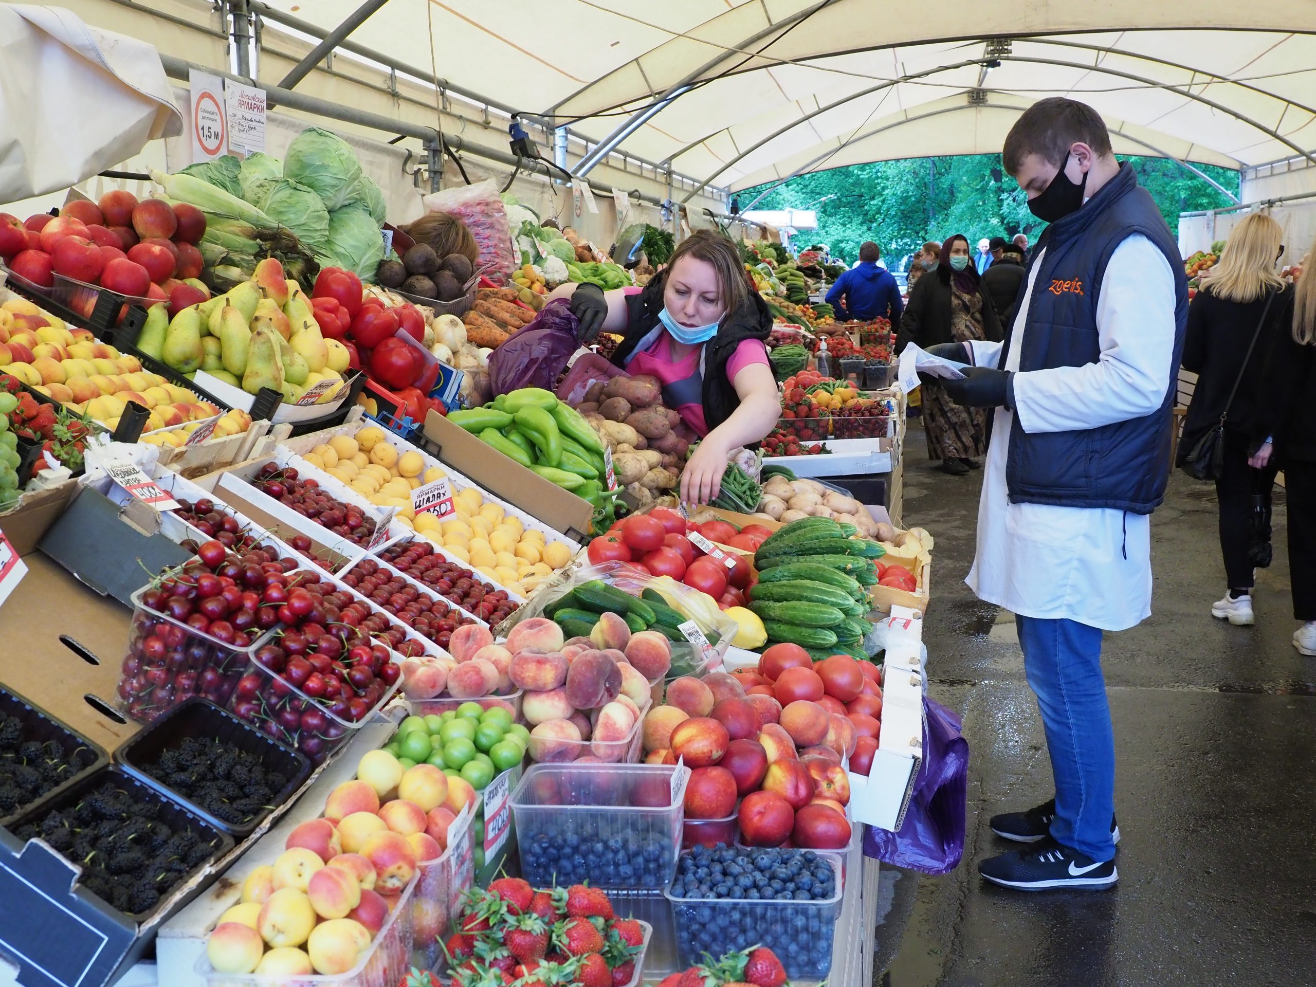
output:
M 686 851 L 682 858 L 692 854 Z M 741 853 L 736 866 L 755 869 L 763 851 Z M 788 853 L 788 851 L 775 851 Z M 683 970 L 703 961 L 705 953 L 720 957 L 757 944 L 769 945 L 792 980 L 821 980 L 832 970 L 832 936 L 841 915 L 841 861 L 829 853 L 800 851 L 808 859 L 830 869 L 833 894 L 821 900 L 751 900 L 741 898 L 684 898 L 665 894 L 671 901 L 671 920 L 676 933 L 676 969 Z M 741 863 L 744 861 L 745 863 Z M 770 874 L 778 867 L 771 867 Z M 809 870 L 813 867 L 809 865 Z M 784 871 L 783 871 L 784 873 Z M 738 875 L 733 875 L 738 876 Z

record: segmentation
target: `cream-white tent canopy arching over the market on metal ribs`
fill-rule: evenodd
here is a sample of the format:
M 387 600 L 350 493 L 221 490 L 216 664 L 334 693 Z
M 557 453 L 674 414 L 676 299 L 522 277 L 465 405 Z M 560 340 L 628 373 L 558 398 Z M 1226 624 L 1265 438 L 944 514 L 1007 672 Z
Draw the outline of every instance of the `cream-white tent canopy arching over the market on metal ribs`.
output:
M 267 3 L 329 29 L 359 0 Z M 353 41 L 433 55 L 454 84 L 736 190 L 996 151 L 1049 95 L 1095 105 L 1121 153 L 1227 167 L 1305 154 L 1313 32 L 1311 0 L 390 0 Z

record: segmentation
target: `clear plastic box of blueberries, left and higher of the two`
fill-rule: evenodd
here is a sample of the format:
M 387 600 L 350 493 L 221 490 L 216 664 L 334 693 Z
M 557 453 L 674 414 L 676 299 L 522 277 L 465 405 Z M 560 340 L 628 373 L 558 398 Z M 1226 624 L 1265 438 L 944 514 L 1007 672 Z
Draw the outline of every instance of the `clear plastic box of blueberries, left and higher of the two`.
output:
M 683 765 L 532 765 L 512 792 L 521 875 L 536 887 L 666 887 L 688 780 Z

